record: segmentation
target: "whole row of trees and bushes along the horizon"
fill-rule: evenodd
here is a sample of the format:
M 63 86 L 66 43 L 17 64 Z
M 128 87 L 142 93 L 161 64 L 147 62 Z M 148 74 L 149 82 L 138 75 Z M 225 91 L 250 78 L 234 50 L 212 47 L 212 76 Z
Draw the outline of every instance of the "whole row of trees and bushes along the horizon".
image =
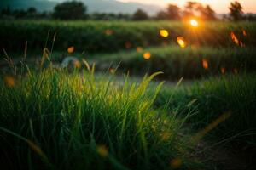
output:
M 224 20 L 256 20 L 253 14 L 243 14 L 241 3 L 237 1 L 230 3 L 229 10 L 230 13 L 224 15 Z M 59 3 L 51 13 L 38 12 L 36 8 L 27 8 L 26 10 L 3 8 L 0 14 L 1 18 L 35 20 L 182 20 L 191 17 L 201 20 L 218 20 L 215 11 L 210 5 L 204 6 L 197 2 L 188 2 L 183 9 L 169 4 L 165 10 L 160 11 L 154 16 L 149 16 L 146 11 L 140 8 L 134 14 L 88 14 L 86 5 L 78 1 Z

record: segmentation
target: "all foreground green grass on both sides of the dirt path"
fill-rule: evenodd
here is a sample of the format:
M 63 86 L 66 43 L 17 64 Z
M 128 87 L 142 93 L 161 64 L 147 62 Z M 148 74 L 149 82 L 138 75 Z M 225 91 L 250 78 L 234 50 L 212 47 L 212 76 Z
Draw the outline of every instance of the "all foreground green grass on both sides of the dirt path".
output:
M 196 156 L 201 140 L 255 147 L 253 74 L 163 88 L 149 84 L 157 74 L 131 81 L 95 76 L 94 68 L 49 68 L 3 76 L 1 163 L 26 169 L 172 169 L 170 162 L 181 160 L 181 169 L 212 169 L 223 162 Z M 227 112 L 227 120 L 198 133 Z

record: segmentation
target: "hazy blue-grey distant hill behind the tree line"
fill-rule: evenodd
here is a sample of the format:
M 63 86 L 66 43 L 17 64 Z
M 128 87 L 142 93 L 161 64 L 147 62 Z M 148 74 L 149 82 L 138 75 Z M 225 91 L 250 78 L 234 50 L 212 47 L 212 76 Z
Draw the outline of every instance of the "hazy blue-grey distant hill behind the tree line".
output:
M 26 9 L 35 7 L 38 11 L 51 11 L 61 0 L 0 0 L 0 8 L 10 7 L 11 9 Z M 121 3 L 116 0 L 80 0 L 87 7 L 88 12 L 100 13 L 134 13 L 137 8 L 142 8 L 148 14 L 156 14 L 160 7 L 155 5 L 145 5 L 142 3 Z

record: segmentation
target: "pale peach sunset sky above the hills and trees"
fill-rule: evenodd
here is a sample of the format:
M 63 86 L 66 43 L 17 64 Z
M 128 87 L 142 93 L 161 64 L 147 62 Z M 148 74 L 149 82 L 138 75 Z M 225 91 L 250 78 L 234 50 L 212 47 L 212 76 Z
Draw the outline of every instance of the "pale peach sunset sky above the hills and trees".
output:
M 203 4 L 209 4 L 211 7 L 218 13 L 228 13 L 230 2 L 234 2 L 235 0 L 118 0 L 120 2 L 137 2 L 137 3 L 147 3 L 147 4 L 155 4 L 159 6 L 165 6 L 168 3 L 176 4 L 179 7 L 183 7 L 183 5 L 188 1 L 200 2 Z M 243 11 L 245 13 L 256 13 L 256 0 L 238 0 L 243 7 Z

